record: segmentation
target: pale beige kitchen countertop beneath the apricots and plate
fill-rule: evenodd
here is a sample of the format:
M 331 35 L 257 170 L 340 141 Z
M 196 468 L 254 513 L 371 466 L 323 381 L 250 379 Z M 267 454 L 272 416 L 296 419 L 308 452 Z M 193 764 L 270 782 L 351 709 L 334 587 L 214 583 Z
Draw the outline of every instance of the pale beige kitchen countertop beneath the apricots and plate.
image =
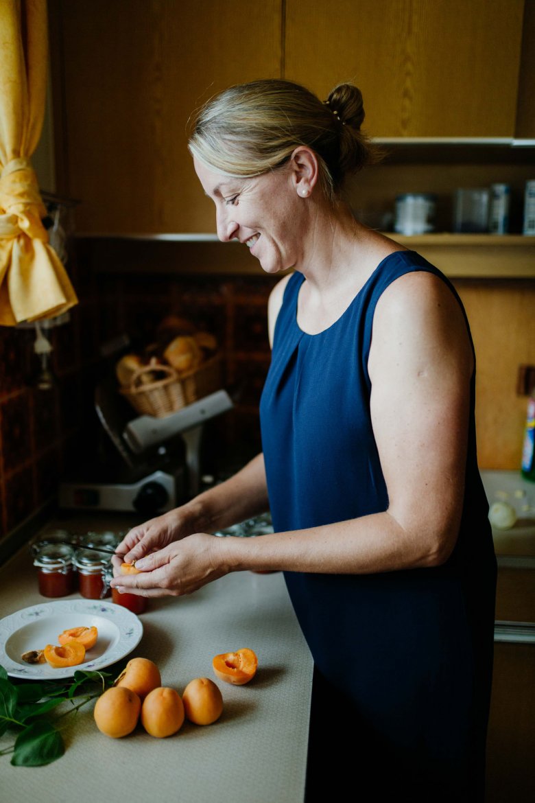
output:
M 50 601 L 39 595 L 27 546 L 2 566 L 0 584 L 0 618 Z M 162 685 L 180 693 L 189 680 L 211 677 L 223 694 L 221 719 L 208 726 L 186 721 L 167 739 L 141 726 L 110 739 L 97 730 L 89 703 L 63 720 L 67 749 L 57 762 L 12 767 L 9 755 L 0 756 L 2 800 L 302 801 L 312 658 L 282 573 L 233 573 L 187 597 L 149 600 L 140 620 L 144 634 L 129 657 L 151 658 Z M 218 681 L 213 655 L 244 646 L 258 655 L 255 678 L 237 687 Z M 0 748 L 12 742 L 13 733 L 3 736 Z

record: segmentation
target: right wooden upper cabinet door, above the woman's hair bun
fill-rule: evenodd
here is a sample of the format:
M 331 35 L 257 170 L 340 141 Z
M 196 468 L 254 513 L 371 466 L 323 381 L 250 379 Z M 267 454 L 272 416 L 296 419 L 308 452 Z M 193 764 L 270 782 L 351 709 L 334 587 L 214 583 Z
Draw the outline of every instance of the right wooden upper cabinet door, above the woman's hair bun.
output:
M 524 0 L 286 0 L 285 75 L 349 81 L 374 137 L 513 137 Z

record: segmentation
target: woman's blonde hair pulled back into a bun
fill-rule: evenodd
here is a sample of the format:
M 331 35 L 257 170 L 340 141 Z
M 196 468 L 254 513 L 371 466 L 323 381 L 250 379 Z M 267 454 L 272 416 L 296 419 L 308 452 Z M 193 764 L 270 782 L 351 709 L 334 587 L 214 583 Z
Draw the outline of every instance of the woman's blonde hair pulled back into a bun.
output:
M 252 177 L 283 165 L 298 145 L 314 150 L 331 201 L 347 175 L 379 161 L 361 132 L 363 96 L 338 84 L 325 101 L 283 79 L 238 84 L 209 100 L 193 121 L 190 152 L 215 173 Z

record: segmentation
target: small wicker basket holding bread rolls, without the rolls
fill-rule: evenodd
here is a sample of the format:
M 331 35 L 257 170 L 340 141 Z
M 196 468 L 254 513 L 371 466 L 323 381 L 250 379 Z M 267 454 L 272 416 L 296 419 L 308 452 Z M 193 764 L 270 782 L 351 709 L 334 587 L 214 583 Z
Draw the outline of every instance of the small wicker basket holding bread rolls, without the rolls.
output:
M 149 374 L 161 378 L 147 381 Z M 220 388 L 221 357 L 217 355 L 180 375 L 171 365 L 152 359 L 133 374 L 129 387 L 121 388 L 120 392 L 141 415 L 164 418 Z

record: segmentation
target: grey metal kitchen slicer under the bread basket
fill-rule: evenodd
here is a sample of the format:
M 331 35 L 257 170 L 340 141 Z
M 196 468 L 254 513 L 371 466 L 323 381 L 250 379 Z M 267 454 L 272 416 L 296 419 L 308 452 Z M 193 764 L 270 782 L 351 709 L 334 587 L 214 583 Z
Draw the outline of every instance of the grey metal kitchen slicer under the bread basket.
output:
M 199 491 L 205 422 L 232 407 L 229 394 L 220 389 L 165 418 L 136 415 L 108 370 L 95 388 L 95 410 L 109 436 L 108 448 L 74 478 L 60 482 L 59 506 L 143 516 L 172 510 Z

